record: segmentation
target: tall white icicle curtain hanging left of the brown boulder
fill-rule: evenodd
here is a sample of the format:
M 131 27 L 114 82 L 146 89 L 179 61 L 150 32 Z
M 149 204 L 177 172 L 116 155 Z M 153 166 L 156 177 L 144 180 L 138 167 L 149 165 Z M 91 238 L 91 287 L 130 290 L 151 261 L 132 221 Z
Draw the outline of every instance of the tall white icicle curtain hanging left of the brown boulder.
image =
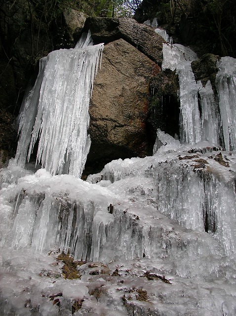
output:
M 81 176 L 90 148 L 89 100 L 103 49 L 103 44 L 91 43 L 89 35 L 83 36 L 76 48 L 52 51 L 40 61 L 21 114 L 15 157 L 20 165 L 29 161 L 39 138 L 37 162 L 42 167 L 53 175 Z

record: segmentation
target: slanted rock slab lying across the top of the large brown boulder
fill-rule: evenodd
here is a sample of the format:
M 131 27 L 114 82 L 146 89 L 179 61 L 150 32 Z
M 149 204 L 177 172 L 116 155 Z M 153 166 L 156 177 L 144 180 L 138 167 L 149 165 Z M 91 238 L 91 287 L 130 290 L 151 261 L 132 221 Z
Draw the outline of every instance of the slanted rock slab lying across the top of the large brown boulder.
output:
M 162 62 L 162 39 L 154 29 L 129 18 L 89 17 L 84 26 L 90 29 L 94 42 L 108 43 L 123 39 L 157 63 Z

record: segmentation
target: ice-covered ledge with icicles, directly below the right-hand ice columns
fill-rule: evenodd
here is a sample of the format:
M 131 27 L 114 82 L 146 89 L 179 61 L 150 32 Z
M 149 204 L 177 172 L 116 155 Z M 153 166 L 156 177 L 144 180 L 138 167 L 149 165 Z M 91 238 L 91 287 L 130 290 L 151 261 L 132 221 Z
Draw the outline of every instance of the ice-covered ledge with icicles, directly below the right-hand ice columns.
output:
M 233 255 L 236 244 L 236 210 L 232 208 L 236 203 L 235 156 L 225 154 L 224 160 L 221 152 L 214 152 L 217 149 L 214 145 L 206 142 L 201 145 L 206 148 L 202 151 L 204 154 L 187 146 L 183 152 L 185 147 L 161 155 L 157 152 L 155 156 L 143 159 L 114 160 L 100 174 L 102 179 L 110 180 L 114 185 L 118 183 L 120 193 L 126 183 L 129 193 L 125 195 L 129 197 L 131 194 L 130 199 L 136 201 L 140 196 L 139 201 L 146 200 L 146 203 L 156 205 L 159 211 L 180 225 L 213 234 L 222 240 L 225 251 Z M 137 177 L 141 179 L 140 183 Z M 112 185 L 108 186 L 114 190 L 112 188 Z M 139 194 L 134 195 L 137 192 Z

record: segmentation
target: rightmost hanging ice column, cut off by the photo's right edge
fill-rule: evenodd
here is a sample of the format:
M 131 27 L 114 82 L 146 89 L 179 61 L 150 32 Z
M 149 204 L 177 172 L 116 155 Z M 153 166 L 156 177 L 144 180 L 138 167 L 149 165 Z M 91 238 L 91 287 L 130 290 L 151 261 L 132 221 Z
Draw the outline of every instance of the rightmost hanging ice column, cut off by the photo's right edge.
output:
M 225 147 L 236 150 L 236 59 L 222 57 L 217 67 L 216 88 L 219 96 Z

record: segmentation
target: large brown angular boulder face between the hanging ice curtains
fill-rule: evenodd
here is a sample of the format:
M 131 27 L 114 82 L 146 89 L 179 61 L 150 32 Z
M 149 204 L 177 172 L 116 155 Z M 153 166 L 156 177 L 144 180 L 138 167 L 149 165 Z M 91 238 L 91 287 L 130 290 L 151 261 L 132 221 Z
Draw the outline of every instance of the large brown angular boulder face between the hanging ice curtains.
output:
M 111 161 L 152 155 L 146 125 L 149 82 L 159 71 L 156 63 L 125 40 L 105 45 L 90 101 L 88 163 L 103 157 Z

